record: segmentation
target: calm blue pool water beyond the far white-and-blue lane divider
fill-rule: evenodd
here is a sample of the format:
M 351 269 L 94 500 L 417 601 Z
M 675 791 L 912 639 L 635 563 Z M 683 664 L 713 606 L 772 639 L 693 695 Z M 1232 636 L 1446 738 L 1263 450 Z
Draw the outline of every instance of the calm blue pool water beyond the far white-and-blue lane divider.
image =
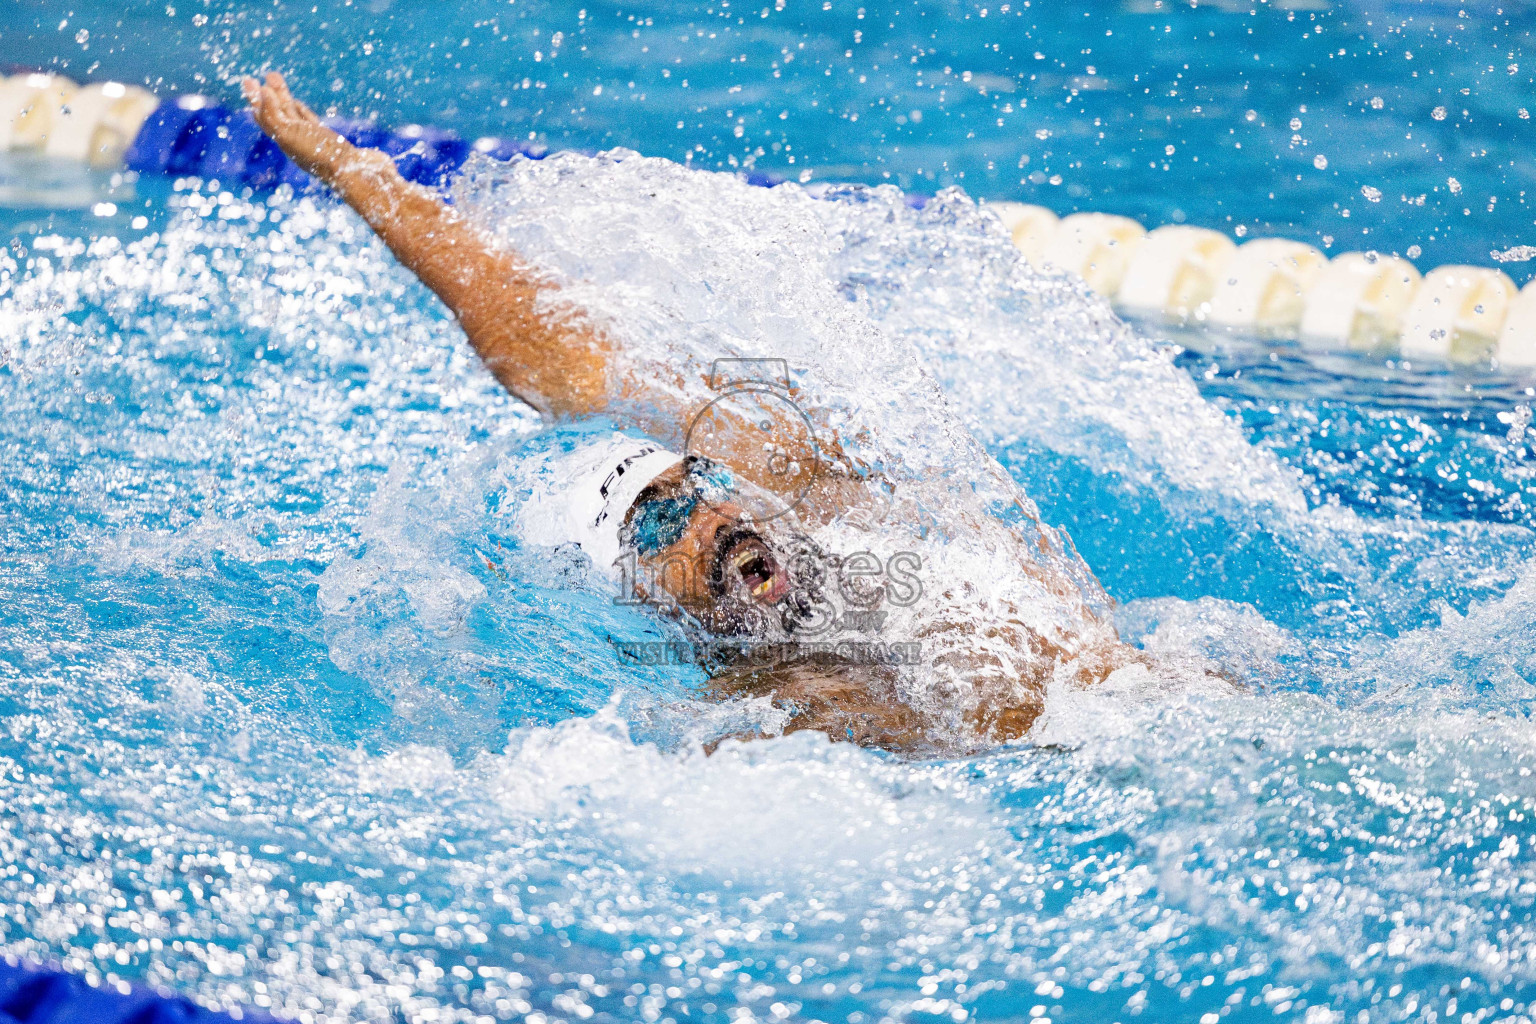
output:
M 9 5 L 0 60 L 224 100 L 278 66 L 392 124 L 962 184 L 1427 270 L 1533 239 L 1533 28 L 1502 0 L 81 0 Z

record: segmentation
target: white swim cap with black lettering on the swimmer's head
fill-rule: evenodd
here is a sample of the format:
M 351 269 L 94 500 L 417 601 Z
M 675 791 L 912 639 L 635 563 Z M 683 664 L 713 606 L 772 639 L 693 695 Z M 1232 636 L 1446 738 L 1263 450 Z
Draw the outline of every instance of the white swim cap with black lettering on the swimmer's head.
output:
M 651 481 L 682 462 L 651 441 L 611 434 L 550 457 L 519 516 L 524 540 L 579 543 L 599 570 L 614 574 L 619 528 Z

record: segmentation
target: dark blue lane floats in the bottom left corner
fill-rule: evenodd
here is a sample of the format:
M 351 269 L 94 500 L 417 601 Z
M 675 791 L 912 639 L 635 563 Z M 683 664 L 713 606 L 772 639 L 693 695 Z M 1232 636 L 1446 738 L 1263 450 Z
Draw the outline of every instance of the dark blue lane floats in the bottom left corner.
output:
M 151 989 L 94 989 L 80 978 L 0 958 L 0 1024 L 278 1024 L 261 1010 L 207 1010 Z

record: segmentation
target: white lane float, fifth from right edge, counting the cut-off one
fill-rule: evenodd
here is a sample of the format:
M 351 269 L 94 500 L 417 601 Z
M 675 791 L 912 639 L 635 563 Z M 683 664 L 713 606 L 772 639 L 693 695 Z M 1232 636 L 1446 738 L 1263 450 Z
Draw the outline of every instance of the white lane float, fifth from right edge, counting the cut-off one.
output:
M 1209 227 L 1166 224 L 1147 233 L 1126 266 L 1114 302 L 1174 322 L 1204 319 L 1236 244 Z

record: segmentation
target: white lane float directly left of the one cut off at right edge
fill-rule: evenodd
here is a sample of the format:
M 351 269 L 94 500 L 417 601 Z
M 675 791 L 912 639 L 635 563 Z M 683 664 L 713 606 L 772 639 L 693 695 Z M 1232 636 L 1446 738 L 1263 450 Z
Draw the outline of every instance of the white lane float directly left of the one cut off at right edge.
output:
M 1488 267 L 1448 266 L 1424 275 L 1402 318 L 1404 356 L 1482 362 L 1499 348 L 1516 287 Z

